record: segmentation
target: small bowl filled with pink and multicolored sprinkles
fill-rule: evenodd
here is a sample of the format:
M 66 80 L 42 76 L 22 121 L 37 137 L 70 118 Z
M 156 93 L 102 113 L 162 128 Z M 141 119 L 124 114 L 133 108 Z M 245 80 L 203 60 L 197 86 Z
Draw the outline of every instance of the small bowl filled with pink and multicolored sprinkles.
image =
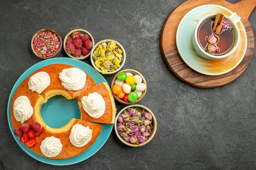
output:
M 31 49 L 43 59 L 57 57 L 62 49 L 61 36 L 52 29 L 41 29 L 32 37 Z

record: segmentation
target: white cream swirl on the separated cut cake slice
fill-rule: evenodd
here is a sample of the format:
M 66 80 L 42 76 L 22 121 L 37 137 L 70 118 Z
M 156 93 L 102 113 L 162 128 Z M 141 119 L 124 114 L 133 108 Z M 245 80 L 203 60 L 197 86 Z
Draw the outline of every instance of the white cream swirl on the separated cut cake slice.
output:
M 88 96 L 84 96 L 81 99 L 83 109 L 94 119 L 101 117 L 106 109 L 106 104 L 103 97 L 97 93 L 90 93 Z

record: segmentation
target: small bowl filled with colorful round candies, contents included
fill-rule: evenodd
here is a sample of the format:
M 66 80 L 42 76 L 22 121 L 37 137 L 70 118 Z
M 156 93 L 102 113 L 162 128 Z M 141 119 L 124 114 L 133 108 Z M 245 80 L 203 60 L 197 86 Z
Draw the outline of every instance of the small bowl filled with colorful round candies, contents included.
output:
M 115 99 L 128 105 L 141 101 L 147 91 L 144 76 L 132 69 L 119 71 L 112 79 L 110 87 Z

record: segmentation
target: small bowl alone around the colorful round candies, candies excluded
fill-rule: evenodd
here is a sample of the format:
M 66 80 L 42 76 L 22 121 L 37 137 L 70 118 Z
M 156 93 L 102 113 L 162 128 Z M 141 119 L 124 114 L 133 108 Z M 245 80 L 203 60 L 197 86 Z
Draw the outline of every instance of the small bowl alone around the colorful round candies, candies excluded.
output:
M 123 99 L 120 99 L 119 97 L 117 97 L 117 95 L 114 94 L 113 91 L 112 91 L 112 87 L 113 87 L 114 84 L 115 84 L 115 81 L 116 81 L 116 79 L 117 79 L 117 75 L 118 75 L 119 73 L 124 73 L 124 72 L 125 72 L 125 73 L 132 73 L 132 75 L 139 75 L 139 76 L 142 78 L 142 82 L 146 85 L 146 89 L 142 92 L 141 96 L 138 97 L 138 99 L 136 100 L 136 102 L 133 102 L 133 103 L 132 103 L 132 102 L 126 102 L 126 101 L 124 101 Z M 112 91 L 113 96 L 115 97 L 115 99 L 116 99 L 118 102 L 120 102 L 120 103 L 122 103 L 122 104 L 131 105 L 131 104 L 135 104 L 135 103 L 141 101 L 141 99 L 143 99 L 143 97 L 145 96 L 146 91 L 147 91 L 147 83 L 146 83 L 146 79 L 144 78 L 144 76 L 143 76 L 141 73 L 139 73 L 138 71 L 133 70 L 133 69 L 126 69 L 126 70 L 119 71 L 119 72 L 113 77 L 112 82 L 111 82 L 111 85 L 110 85 L 110 88 L 111 88 L 111 91 Z

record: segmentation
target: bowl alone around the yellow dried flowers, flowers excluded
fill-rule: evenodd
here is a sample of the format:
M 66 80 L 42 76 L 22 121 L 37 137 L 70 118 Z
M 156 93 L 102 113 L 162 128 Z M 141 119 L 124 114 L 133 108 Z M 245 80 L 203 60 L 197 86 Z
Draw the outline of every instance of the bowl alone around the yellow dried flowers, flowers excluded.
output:
M 92 48 L 92 51 L 91 51 L 91 56 L 90 56 L 90 59 L 91 59 L 91 63 L 92 63 L 92 66 L 101 74 L 102 71 L 100 68 L 98 68 L 96 65 L 95 65 L 95 60 L 94 60 L 94 51 L 97 49 L 97 47 L 102 44 L 102 43 L 107 43 L 108 42 L 115 42 L 117 46 L 119 46 L 119 48 L 123 51 L 122 55 L 123 55 L 123 60 L 121 61 L 120 63 L 120 67 L 117 68 L 116 70 L 113 70 L 113 71 L 108 71 L 106 74 L 109 75 L 109 74 L 114 74 L 114 73 L 117 73 L 118 71 L 121 70 L 121 68 L 124 66 L 124 63 L 126 61 L 126 53 L 125 53 L 125 50 L 124 50 L 124 47 L 117 41 L 115 40 L 110 40 L 110 39 L 107 39 L 107 40 L 101 40 L 100 42 L 98 42 L 97 44 L 95 44 L 95 46 Z

